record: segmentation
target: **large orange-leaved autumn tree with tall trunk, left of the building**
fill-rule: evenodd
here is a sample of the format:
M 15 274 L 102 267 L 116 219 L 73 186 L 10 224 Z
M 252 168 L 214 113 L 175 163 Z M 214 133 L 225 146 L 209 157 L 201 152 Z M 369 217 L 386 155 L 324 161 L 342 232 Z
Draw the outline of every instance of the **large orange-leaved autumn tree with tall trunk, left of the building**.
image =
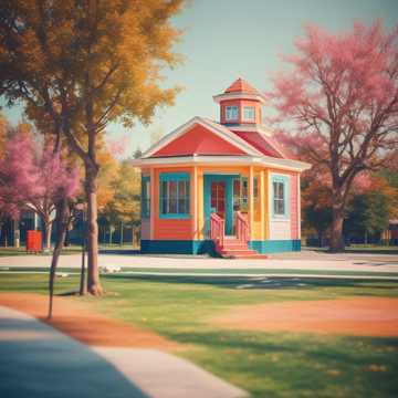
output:
M 179 32 L 170 19 L 182 0 L 3 1 L 0 94 L 51 121 L 85 170 L 87 291 L 102 294 L 97 252 L 98 146 L 107 125 L 148 123 L 172 104 L 161 71 L 174 66 Z M 161 83 L 161 84 L 160 84 Z

